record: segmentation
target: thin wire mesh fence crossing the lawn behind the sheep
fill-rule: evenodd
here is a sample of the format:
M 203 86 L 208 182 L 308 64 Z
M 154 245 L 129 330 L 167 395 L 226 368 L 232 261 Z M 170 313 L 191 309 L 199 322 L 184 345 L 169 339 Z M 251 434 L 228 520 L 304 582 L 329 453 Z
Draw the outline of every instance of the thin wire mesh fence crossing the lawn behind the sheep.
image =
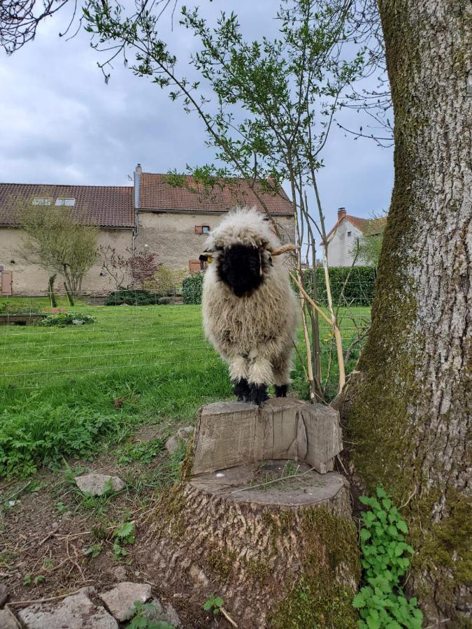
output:
M 141 298 L 138 293 L 134 291 L 136 304 Z M 366 296 L 372 294 L 372 285 L 354 268 L 350 290 L 339 289 L 336 294 L 349 371 L 369 330 Z M 147 305 L 118 305 L 110 298 L 107 302 L 103 294 L 89 292 L 76 295 L 73 306 L 66 296 L 59 296 L 52 308 L 48 296 L 0 296 L 0 389 L 8 393 L 76 386 L 110 375 L 145 377 L 156 384 L 176 369 L 206 373 L 212 368 L 224 373 L 222 361 L 203 335 L 201 306 L 159 303 L 159 299 L 155 296 L 155 303 Z M 304 351 L 300 331 L 294 387 L 301 394 Z M 331 330 L 322 319 L 320 354 L 322 383 L 329 398 L 336 393 L 336 353 Z

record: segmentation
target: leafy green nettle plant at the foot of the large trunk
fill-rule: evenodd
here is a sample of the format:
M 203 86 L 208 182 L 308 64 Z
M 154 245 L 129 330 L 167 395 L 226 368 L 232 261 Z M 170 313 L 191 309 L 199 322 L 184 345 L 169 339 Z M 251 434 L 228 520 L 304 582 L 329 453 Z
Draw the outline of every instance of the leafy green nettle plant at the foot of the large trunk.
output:
M 401 581 L 410 566 L 413 548 L 406 543 L 408 526 L 387 493 L 377 488 L 377 498 L 360 498 L 370 511 L 362 513 L 363 581 L 352 600 L 362 620 L 359 629 L 421 629 L 423 614 L 417 599 L 408 600 Z

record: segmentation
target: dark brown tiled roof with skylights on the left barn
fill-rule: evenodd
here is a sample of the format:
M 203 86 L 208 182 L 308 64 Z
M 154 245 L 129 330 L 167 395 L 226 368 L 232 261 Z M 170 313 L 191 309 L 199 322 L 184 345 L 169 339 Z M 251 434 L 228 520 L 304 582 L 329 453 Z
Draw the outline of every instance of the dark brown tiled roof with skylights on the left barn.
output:
M 75 198 L 74 208 L 87 210 L 101 227 L 134 227 L 133 187 L 63 186 L 0 183 L 0 225 L 15 225 L 15 198 Z M 73 212 L 73 208 L 71 207 Z

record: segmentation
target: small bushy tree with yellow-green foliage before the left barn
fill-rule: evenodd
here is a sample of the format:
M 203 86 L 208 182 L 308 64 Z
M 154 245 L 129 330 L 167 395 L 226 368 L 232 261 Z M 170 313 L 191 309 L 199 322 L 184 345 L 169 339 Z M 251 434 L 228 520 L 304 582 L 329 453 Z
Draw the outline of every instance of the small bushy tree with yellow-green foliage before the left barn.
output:
M 61 275 L 73 305 L 73 296 L 82 289 L 83 277 L 96 260 L 98 227 L 91 224 L 85 209 L 71 212 L 64 205 L 32 205 L 24 199 L 15 201 L 15 209 L 24 231 L 20 255 L 48 272 L 49 293 L 52 277 Z

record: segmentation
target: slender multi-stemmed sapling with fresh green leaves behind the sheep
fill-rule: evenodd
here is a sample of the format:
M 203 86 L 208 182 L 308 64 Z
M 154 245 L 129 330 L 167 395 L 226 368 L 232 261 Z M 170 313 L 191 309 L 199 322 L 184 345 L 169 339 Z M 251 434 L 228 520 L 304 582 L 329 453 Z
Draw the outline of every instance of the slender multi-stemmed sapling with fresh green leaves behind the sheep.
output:
M 134 54 L 131 68 L 137 75 L 149 76 L 160 87 L 169 88 L 173 101 L 199 115 L 208 133 L 207 144 L 221 166 L 188 168 L 198 189 L 211 193 L 218 185 L 236 187 L 235 178 L 243 178 L 269 215 L 265 194 L 282 194 L 282 182 L 289 182 L 299 245 L 292 276 L 300 291 L 306 375 L 313 400 L 322 398 L 318 317 L 333 329 L 340 388 L 344 384 L 327 254 L 328 315 L 316 302 L 315 282 L 313 295 L 306 293 L 301 256 L 313 266 L 315 236 L 326 245 L 317 188 L 320 153 L 336 110 L 364 69 L 362 54 L 354 54 L 352 59 L 342 54 L 350 6 L 350 2 L 333 5 L 329 0 L 283 0 L 276 16 L 278 36 L 260 41 L 245 40 L 234 13 L 222 13 L 211 27 L 199 10 L 184 6 L 180 24 L 200 43 L 200 50 L 190 59 L 192 78 L 180 74 L 176 56 L 160 36 L 157 12 L 141 10 L 143 4 L 138 2 L 131 15 L 110 0 L 90 0 L 83 10 L 86 30 L 96 37 L 94 47 L 115 48 L 116 55 L 126 50 L 127 59 L 128 53 Z M 171 173 L 173 185 L 184 181 L 179 173 Z M 314 199 L 313 208 L 308 198 Z M 313 218 L 313 210 L 318 220 Z

